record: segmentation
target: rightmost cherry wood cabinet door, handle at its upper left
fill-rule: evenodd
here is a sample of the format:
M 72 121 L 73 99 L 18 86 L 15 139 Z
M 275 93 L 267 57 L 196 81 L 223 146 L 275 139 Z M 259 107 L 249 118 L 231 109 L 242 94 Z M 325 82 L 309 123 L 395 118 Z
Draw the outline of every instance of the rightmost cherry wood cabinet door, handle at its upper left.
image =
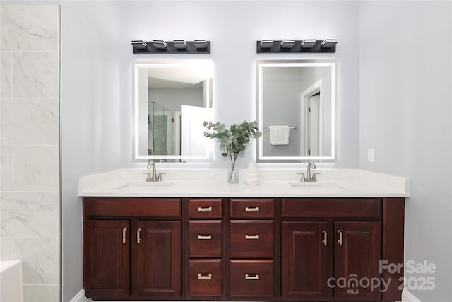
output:
M 335 234 L 335 298 L 379 301 L 381 223 L 336 222 Z

